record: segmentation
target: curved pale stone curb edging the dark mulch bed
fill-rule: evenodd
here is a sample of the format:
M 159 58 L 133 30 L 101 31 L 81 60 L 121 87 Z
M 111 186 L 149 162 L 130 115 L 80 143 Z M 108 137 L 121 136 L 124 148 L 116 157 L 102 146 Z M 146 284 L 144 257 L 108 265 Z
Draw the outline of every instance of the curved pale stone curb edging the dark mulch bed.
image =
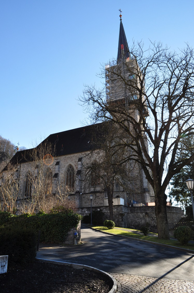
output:
M 42 262 L 45 262 L 45 263 L 53 263 L 53 264 L 58 264 L 58 265 L 67 265 L 67 266 L 73 267 L 73 268 L 78 268 L 78 269 L 85 268 L 85 269 L 90 270 L 90 271 L 101 272 L 103 275 L 106 275 L 109 279 L 111 279 L 113 281 L 112 289 L 108 293 L 116 293 L 117 292 L 117 281 L 115 280 L 115 278 L 113 278 L 110 274 L 108 274 L 107 272 L 104 272 L 102 270 L 98 270 L 98 269 L 90 267 L 88 265 L 80 265 L 80 264 L 77 264 L 77 263 L 66 263 L 66 262 L 63 262 L 63 261 L 48 260 L 48 259 L 43 259 L 43 258 L 36 258 L 36 260 L 42 261 Z

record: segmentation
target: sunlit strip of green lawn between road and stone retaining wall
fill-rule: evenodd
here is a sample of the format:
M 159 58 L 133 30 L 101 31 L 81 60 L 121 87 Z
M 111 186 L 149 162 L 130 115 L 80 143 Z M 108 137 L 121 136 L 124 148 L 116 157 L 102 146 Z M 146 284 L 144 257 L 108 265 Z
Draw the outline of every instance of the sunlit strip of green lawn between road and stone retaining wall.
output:
M 118 229 L 118 227 L 115 227 L 114 229 L 108 229 L 108 228 L 102 227 L 102 226 L 93 226 L 92 228 L 99 230 L 99 231 L 105 231 L 108 233 L 112 233 L 115 235 L 127 236 L 127 237 L 131 237 L 131 238 L 167 244 L 167 245 L 176 246 L 176 247 L 180 247 L 180 248 L 186 248 L 186 249 L 190 249 L 190 250 L 194 251 L 194 244 L 188 243 L 187 245 L 183 246 L 177 240 L 162 240 L 162 239 L 158 239 L 157 236 L 151 236 L 151 235 L 155 235 L 154 233 L 149 233 L 148 236 L 144 236 L 143 234 L 135 233 L 135 231 L 138 231 L 138 230 L 132 230 L 132 229 L 130 229 L 130 230 L 132 230 L 132 232 L 129 232 L 129 231 L 124 231 L 127 229 L 122 228 L 124 230 L 120 230 L 120 229 Z M 138 232 L 140 232 L 140 231 L 138 231 Z

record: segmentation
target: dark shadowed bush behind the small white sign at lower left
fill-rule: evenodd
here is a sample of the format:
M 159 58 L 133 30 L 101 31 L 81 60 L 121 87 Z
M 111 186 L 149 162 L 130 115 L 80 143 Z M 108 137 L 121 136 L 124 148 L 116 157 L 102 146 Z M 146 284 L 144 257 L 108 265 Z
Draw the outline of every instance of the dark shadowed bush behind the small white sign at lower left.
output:
M 32 229 L 6 226 L 0 229 L 1 255 L 8 255 L 9 267 L 33 262 L 37 237 Z

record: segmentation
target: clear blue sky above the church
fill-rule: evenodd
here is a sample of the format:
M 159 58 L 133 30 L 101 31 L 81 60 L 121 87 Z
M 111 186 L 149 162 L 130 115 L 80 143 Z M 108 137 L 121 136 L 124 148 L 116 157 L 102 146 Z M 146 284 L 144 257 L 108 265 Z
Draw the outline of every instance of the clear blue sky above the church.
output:
M 101 64 L 117 57 L 119 11 L 129 43 L 194 46 L 193 0 L 0 1 L 0 135 L 32 147 L 82 126 L 84 84 L 100 86 Z

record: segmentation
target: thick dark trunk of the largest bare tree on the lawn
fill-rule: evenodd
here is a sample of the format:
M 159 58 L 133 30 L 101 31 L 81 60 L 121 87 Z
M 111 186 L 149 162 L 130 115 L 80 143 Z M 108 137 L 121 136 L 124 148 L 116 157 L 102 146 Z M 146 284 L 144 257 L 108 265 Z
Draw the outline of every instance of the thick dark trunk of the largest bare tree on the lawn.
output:
M 167 196 L 165 193 L 157 192 L 155 195 L 155 215 L 159 239 L 169 239 L 168 219 L 167 219 Z

